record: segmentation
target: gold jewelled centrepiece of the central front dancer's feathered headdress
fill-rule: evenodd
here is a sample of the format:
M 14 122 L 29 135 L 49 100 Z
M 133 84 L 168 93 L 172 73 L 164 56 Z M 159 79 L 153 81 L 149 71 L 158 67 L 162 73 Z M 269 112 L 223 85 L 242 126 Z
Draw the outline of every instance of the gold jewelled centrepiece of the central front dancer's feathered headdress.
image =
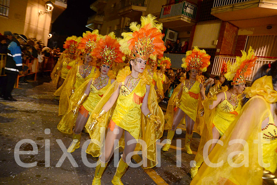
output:
M 151 35 L 146 36 L 144 33 L 144 37 L 138 38 L 138 41 L 135 42 L 131 50 L 131 60 L 135 58 L 142 58 L 143 60 L 147 60 L 149 55 L 154 52 L 154 37 L 151 38 Z

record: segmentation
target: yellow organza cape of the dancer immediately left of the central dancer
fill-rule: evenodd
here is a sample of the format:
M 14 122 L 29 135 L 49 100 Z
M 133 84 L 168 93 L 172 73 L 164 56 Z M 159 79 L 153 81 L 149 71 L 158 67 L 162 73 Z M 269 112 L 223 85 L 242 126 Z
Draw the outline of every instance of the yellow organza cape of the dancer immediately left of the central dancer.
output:
M 68 109 L 66 111 L 66 114 L 64 114 L 62 116 L 62 119 L 60 120 L 57 128 L 59 131 L 66 133 L 66 134 L 72 134 L 72 128 L 75 125 L 76 122 L 76 118 L 78 116 L 78 114 L 73 114 L 72 110 L 74 109 L 74 106 L 77 104 L 77 102 L 79 101 L 79 99 L 81 98 L 81 96 L 84 94 L 87 85 L 90 82 L 91 79 L 95 80 L 96 78 L 98 78 L 100 75 L 99 70 L 96 70 L 95 73 L 93 73 L 93 76 L 89 79 L 87 79 L 84 83 L 82 83 L 82 85 L 80 85 L 72 94 L 72 96 L 70 97 L 69 100 L 69 106 Z M 112 71 L 110 70 L 108 73 L 108 76 L 110 79 L 114 79 L 115 76 L 112 73 Z

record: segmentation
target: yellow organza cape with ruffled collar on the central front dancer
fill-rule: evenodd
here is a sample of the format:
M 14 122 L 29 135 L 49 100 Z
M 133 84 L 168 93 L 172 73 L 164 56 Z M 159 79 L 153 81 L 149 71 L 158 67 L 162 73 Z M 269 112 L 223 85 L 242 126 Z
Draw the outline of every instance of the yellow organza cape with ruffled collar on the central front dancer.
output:
M 104 104 L 110 99 L 110 96 L 115 92 L 115 90 L 118 88 L 119 85 L 122 84 L 122 82 L 125 80 L 125 78 L 130 75 L 130 67 L 125 67 L 121 71 L 119 71 L 116 81 L 109 87 L 109 89 L 106 91 L 106 93 L 103 95 L 102 99 L 98 102 L 96 107 L 94 108 L 94 111 L 91 113 L 87 123 L 86 123 L 86 129 L 88 130 L 90 134 L 90 144 L 86 150 L 88 154 L 91 154 L 93 157 L 98 157 L 102 151 L 100 151 L 100 148 L 104 146 L 104 143 L 102 142 L 103 138 L 101 136 L 105 136 L 105 133 L 107 131 L 107 126 L 110 122 L 111 115 L 113 114 L 113 110 L 116 106 L 116 102 L 111 108 L 98 122 L 96 125 L 94 131 L 89 130 L 89 125 L 91 123 L 92 115 L 97 115 Z M 150 85 L 152 83 L 151 78 L 149 75 L 146 74 L 146 70 L 144 70 L 143 73 L 139 76 L 141 80 L 144 80 L 147 85 Z M 157 165 L 156 160 L 156 141 L 163 136 L 163 128 L 164 128 L 164 116 L 163 111 L 159 107 L 157 102 L 157 96 L 155 89 L 153 86 L 150 88 L 149 96 L 148 96 L 148 108 L 150 112 L 153 115 L 156 115 L 161 120 L 161 127 L 159 130 L 155 130 L 155 125 L 151 124 L 149 120 L 141 113 L 141 130 L 140 130 L 140 136 L 139 139 L 144 140 L 146 143 L 146 148 L 142 148 L 140 144 L 137 144 L 136 151 L 143 150 L 143 157 L 147 158 L 147 167 L 151 168 Z M 126 123 L 127 124 L 127 123 Z M 124 148 L 124 134 L 122 135 L 121 139 L 119 140 L 119 146 Z

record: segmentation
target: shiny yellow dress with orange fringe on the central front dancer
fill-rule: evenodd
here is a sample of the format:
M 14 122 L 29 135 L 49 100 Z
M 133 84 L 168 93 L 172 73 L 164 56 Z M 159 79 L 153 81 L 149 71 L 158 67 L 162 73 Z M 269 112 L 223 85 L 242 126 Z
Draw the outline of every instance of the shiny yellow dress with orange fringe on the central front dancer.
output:
M 141 105 L 145 93 L 146 84 L 142 79 L 132 92 L 122 82 L 111 118 L 116 125 L 128 131 L 135 139 L 139 139 Z

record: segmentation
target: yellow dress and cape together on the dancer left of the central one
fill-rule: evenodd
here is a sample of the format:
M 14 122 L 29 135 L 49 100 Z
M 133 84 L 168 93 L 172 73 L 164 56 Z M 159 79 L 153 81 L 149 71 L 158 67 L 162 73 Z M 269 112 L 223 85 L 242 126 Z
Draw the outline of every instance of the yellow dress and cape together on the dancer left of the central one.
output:
M 111 70 L 110 70 L 111 71 Z M 110 87 L 111 79 L 114 79 L 115 76 L 112 72 L 108 73 L 109 81 L 108 84 L 105 87 L 102 87 L 101 89 L 96 89 L 93 85 L 93 82 L 99 77 L 100 72 L 97 70 L 96 73 L 93 74 L 93 77 L 87 79 L 86 82 L 84 82 L 80 87 L 78 87 L 75 92 L 72 94 L 69 100 L 69 108 L 67 109 L 66 114 L 62 116 L 62 119 L 60 120 L 57 128 L 59 131 L 66 133 L 66 134 L 72 134 L 72 128 L 75 125 L 76 118 L 78 114 L 73 114 L 72 110 L 74 109 L 74 106 L 77 104 L 80 97 L 84 94 L 88 83 L 91 79 L 93 81 L 90 84 L 90 93 L 87 97 L 87 99 L 83 102 L 81 108 L 79 109 L 79 112 L 87 117 L 95 108 L 97 103 L 101 100 L 103 94 L 106 92 L 106 90 Z

